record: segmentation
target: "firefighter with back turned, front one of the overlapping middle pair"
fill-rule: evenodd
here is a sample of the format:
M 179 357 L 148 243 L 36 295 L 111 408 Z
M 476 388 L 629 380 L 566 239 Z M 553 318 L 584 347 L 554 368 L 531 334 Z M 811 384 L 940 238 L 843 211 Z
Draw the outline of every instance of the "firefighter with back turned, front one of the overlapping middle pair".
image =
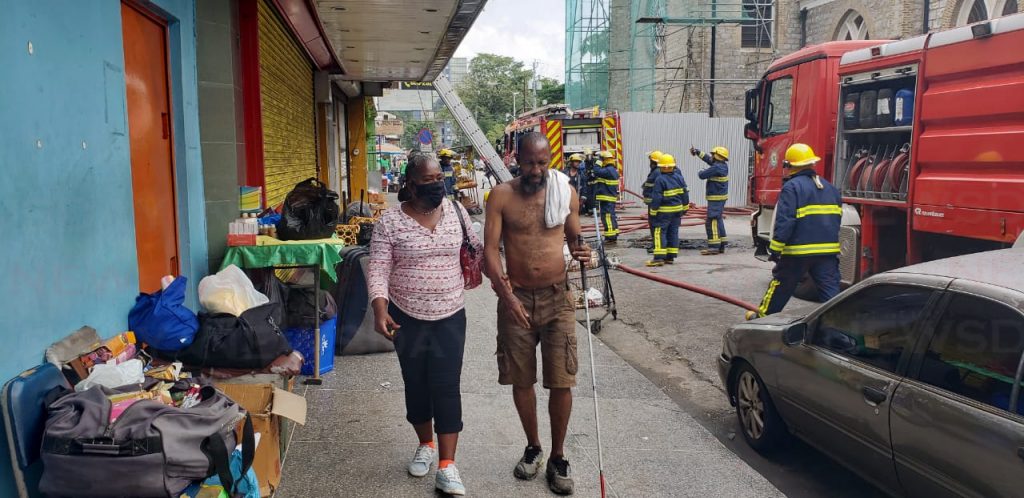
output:
M 654 230 L 654 258 L 648 266 L 672 264 L 679 254 L 679 221 L 689 208 L 686 182 L 676 174 L 676 158 L 662 154 L 657 159 L 657 176 L 650 191 L 650 225 Z

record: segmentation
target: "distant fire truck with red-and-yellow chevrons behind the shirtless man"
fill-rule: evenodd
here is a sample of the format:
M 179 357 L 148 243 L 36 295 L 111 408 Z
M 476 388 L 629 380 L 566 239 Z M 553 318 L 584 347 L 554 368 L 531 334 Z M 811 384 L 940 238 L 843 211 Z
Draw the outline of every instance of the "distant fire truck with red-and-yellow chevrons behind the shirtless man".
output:
M 519 115 L 505 127 L 505 136 L 499 143 L 505 164 L 515 162 L 515 148 L 519 135 L 539 131 L 551 144 L 551 167 L 562 169 L 565 158 L 586 151 L 613 151 L 623 170 L 623 133 L 618 113 L 594 110 L 572 112 L 568 106 L 555 103 Z

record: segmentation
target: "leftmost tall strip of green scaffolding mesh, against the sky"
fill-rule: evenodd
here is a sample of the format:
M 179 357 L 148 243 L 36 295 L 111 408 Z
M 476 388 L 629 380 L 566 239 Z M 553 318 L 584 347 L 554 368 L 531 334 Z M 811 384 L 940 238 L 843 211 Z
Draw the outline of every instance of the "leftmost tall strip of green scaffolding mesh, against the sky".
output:
M 572 109 L 608 103 L 610 0 L 565 0 L 565 103 Z

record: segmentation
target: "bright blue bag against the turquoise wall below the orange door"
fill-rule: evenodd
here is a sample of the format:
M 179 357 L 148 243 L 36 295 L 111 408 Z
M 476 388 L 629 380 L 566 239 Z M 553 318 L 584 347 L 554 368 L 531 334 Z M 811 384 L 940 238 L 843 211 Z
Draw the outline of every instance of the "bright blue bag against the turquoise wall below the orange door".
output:
M 191 344 L 199 330 L 199 320 L 184 305 L 184 277 L 178 277 L 162 291 L 141 293 L 128 314 L 128 330 L 139 342 L 157 349 L 177 351 Z

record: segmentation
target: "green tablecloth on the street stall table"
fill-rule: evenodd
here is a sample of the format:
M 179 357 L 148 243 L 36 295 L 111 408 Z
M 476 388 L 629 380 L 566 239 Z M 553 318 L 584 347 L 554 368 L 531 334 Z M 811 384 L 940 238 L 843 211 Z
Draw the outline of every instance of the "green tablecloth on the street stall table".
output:
M 341 262 L 338 251 L 344 245 L 337 239 L 228 247 L 220 267 L 223 269 L 228 264 L 240 268 L 264 268 L 278 264 L 319 264 L 321 271 L 328 279 L 338 282 L 334 266 Z

